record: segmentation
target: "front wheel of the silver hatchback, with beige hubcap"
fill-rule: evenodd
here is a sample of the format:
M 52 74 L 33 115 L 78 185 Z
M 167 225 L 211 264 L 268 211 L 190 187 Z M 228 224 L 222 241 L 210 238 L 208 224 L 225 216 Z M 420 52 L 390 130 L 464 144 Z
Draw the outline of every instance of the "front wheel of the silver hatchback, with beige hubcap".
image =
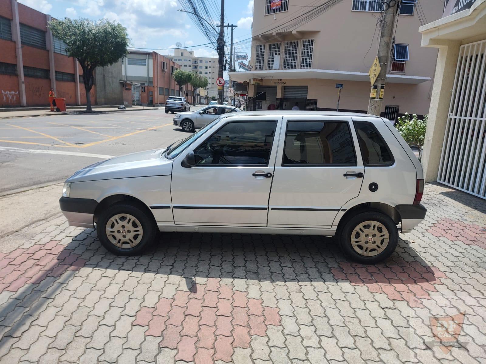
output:
M 143 208 L 128 203 L 117 203 L 98 216 L 96 230 L 106 250 L 116 255 L 131 256 L 139 255 L 154 243 L 157 225 L 154 217 L 148 215 Z M 139 231 L 141 236 L 137 234 Z M 126 235 L 121 235 L 123 232 Z M 133 247 L 132 243 L 135 244 Z

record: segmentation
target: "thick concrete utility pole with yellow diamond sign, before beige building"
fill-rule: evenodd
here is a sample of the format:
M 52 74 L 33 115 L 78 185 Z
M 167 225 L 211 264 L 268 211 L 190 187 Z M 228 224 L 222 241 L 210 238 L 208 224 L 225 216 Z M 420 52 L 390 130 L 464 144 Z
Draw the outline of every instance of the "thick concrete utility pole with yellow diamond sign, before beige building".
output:
M 393 4 L 393 6 L 390 4 Z M 384 93 L 390 50 L 393 44 L 393 27 L 399 9 L 399 0 L 383 1 L 382 6 L 387 8 L 382 14 L 382 31 L 380 34 L 380 45 L 378 47 L 378 60 L 380 61 L 381 70 L 374 83 L 377 86 L 375 99 L 369 99 L 368 103 L 368 114 L 377 116 L 380 116 L 382 111 L 383 98 L 380 99 L 380 95 Z M 383 90 L 383 93 L 381 90 Z

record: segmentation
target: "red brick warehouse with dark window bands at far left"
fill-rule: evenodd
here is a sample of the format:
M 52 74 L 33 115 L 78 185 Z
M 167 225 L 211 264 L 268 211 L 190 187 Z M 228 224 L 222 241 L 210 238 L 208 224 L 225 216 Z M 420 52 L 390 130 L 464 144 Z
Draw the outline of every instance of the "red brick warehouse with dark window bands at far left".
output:
M 50 20 L 16 0 L 0 0 L 0 107 L 48 106 L 51 88 L 68 105 L 86 104 L 81 66 L 52 36 Z

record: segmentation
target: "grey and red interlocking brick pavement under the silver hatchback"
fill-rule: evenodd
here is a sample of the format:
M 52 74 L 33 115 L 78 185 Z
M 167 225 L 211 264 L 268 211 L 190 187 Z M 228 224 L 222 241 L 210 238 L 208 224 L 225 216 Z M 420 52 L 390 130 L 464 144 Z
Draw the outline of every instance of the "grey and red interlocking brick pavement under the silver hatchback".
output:
M 118 257 L 52 225 L 0 253 L 0 363 L 486 363 L 486 201 L 423 203 L 378 265 L 316 236 L 165 233 Z M 430 317 L 459 313 L 443 350 Z

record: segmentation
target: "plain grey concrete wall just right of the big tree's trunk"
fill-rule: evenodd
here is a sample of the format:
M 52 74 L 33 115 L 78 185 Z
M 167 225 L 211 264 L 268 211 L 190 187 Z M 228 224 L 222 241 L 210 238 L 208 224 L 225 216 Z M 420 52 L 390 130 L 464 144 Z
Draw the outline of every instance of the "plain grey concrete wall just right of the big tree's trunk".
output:
M 96 68 L 96 94 L 100 105 L 123 105 L 122 79 L 121 59 L 113 65 Z

